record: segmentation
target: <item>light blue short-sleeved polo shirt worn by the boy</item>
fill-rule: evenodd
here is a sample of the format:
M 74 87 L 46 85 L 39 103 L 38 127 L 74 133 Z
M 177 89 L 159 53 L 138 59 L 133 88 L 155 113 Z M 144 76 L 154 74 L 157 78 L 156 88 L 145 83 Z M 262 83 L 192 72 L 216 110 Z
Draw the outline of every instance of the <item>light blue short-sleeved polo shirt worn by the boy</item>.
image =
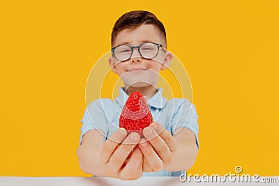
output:
M 176 127 L 187 127 L 192 130 L 196 137 L 196 143 L 199 147 L 197 134 L 197 112 L 195 105 L 186 99 L 167 100 L 162 96 L 163 89 L 158 88 L 158 91 L 153 97 L 147 101 L 151 111 L 153 121 L 163 125 L 172 135 Z M 119 116 L 123 106 L 128 99 L 128 95 L 124 88 L 119 88 L 120 95 L 115 100 L 98 99 L 94 100 L 84 111 L 82 118 L 80 144 L 83 135 L 93 129 L 102 130 L 105 134 L 105 139 L 119 128 Z M 158 171 L 151 173 L 143 173 L 143 176 L 179 176 L 181 171 Z

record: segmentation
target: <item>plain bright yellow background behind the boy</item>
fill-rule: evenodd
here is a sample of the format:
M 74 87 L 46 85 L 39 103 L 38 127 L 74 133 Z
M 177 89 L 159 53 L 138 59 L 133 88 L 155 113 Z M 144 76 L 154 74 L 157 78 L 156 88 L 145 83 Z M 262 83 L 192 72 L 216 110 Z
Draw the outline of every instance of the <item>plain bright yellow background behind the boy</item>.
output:
M 1 1 L 0 175 L 89 176 L 76 149 L 86 79 L 129 10 L 165 24 L 193 86 L 189 173 L 279 175 L 279 1 Z

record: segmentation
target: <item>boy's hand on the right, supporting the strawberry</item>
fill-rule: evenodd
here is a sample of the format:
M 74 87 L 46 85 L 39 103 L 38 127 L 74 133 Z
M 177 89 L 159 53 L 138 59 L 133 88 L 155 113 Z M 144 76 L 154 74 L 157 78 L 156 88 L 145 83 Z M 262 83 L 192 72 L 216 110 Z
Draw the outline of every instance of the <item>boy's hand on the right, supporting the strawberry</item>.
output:
M 144 155 L 143 171 L 167 169 L 177 148 L 176 139 L 159 123 L 144 128 L 143 134 L 145 138 L 140 139 L 140 149 Z

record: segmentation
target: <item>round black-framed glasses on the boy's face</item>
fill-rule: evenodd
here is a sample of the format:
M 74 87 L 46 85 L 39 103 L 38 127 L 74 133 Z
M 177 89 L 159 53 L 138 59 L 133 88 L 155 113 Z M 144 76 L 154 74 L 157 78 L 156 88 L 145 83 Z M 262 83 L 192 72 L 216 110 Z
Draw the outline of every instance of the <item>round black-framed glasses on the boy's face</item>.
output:
M 118 61 L 127 61 L 131 58 L 134 48 L 137 48 L 144 59 L 153 59 L 158 55 L 160 47 L 162 45 L 153 42 L 144 42 L 139 46 L 119 45 L 112 48 L 112 56 Z

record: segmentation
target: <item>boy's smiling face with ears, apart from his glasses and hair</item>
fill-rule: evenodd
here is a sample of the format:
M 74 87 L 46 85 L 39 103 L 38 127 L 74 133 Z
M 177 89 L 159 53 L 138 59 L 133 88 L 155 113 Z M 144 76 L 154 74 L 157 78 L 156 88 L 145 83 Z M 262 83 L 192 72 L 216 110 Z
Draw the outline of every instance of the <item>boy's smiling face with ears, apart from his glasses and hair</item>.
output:
M 165 40 L 160 31 L 152 24 L 142 24 L 133 29 L 120 31 L 115 40 L 114 46 L 130 45 L 139 46 L 143 42 L 153 42 L 165 46 Z M 159 48 L 158 55 L 153 59 L 144 59 L 140 56 L 138 48 L 133 49 L 133 54 L 127 61 L 120 62 L 114 57 L 110 57 L 110 66 L 123 80 L 125 86 L 143 88 L 146 86 L 156 86 L 160 70 L 166 70 L 172 61 L 172 54 Z

